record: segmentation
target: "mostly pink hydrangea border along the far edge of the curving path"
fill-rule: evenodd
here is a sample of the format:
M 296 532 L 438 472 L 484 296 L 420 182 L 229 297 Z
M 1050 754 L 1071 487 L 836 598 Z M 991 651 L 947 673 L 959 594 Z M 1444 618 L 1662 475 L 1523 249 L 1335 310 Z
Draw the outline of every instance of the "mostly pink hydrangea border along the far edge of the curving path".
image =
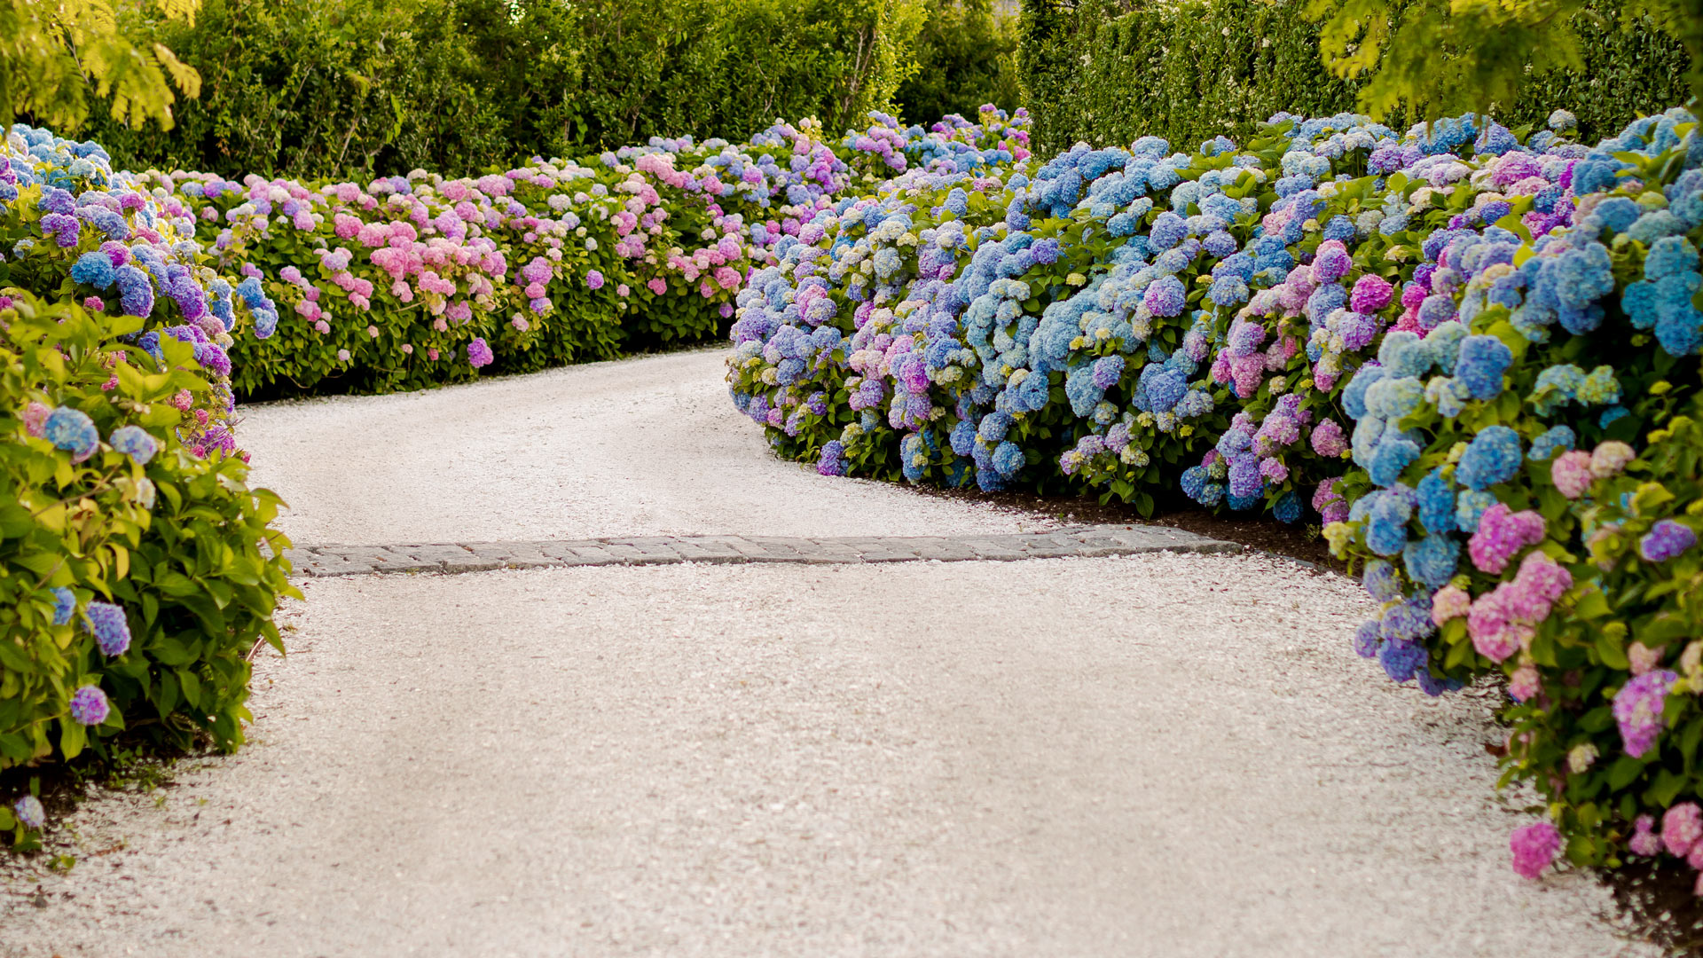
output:
M 748 143 L 652 138 L 591 164 L 536 160 L 482 177 L 141 182 L 216 235 L 208 257 L 279 303 L 242 339 L 238 394 L 390 392 L 697 341 L 817 210 L 874 172 L 1027 157 L 1027 114 L 986 107 L 930 130 L 872 114 L 828 138 L 777 123 Z

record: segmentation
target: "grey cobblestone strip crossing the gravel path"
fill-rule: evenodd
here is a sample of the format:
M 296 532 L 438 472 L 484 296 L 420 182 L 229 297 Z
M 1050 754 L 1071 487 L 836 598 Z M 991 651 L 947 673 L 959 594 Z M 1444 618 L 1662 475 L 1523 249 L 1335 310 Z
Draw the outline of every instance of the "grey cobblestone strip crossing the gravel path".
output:
M 1241 552 L 1192 532 L 1155 525 L 1093 525 L 1017 535 L 640 535 L 542 542 L 424 542 L 412 545 L 303 545 L 290 551 L 296 574 L 479 573 L 550 566 L 666 566 L 674 563 L 969 563 L 1132 556 L 1138 552 Z

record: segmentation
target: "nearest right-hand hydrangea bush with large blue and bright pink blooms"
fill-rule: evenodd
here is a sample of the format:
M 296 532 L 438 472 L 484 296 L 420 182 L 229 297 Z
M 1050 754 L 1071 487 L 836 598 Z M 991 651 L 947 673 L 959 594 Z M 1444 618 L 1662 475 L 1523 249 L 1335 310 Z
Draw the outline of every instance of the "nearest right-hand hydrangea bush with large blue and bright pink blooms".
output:
M 1565 228 L 1439 244 L 1459 334 L 1386 338 L 1350 384 L 1391 462 L 1327 528 L 1385 602 L 1357 646 L 1427 690 L 1505 677 L 1504 781 L 1550 811 L 1512 839 L 1528 874 L 1563 851 L 1703 866 L 1694 128 L 1671 111 L 1568 162 Z

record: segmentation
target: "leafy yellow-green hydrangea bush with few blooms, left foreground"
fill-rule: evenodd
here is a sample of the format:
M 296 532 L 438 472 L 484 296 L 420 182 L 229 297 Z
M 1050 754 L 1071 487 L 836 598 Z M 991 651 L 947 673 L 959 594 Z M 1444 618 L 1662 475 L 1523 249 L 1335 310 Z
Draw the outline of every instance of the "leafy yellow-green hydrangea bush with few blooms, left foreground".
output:
M 218 389 L 196 341 L 135 344 L 143 322 L 0 297 L 0 770 L 138 726 L 235 748 L 247 653 L 279 644 L 279 499 L 198 448 Z M 0 808 L 14 844 L 43 822 Z

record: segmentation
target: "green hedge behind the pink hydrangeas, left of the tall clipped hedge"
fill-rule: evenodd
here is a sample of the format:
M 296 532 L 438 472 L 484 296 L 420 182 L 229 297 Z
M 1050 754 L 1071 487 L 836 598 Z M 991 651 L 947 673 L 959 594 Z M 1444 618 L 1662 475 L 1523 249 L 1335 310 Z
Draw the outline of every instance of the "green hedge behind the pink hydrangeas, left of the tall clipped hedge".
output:
M 891 0 L 206 0 L 133 22 L 201 72 L 175 128 L 102 109 L 121 169 L 300 179 L 477 172 L 652 135 L 743 140 L 777 116 L 853 126 L 899 77 Z M 901 56 L 901 66 L 909 58 Z

